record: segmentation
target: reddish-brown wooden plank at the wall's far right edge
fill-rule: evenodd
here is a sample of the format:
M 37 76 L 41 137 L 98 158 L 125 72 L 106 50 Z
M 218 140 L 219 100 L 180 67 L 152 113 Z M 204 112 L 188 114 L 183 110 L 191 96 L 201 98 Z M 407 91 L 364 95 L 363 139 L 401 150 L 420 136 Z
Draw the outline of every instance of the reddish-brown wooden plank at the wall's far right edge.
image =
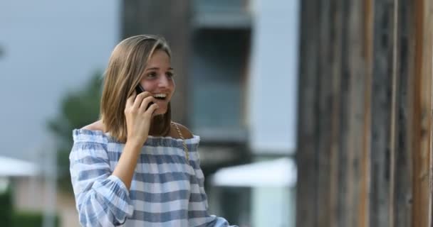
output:
M 414 158 L 413 226 L 431 226 L 429 223 L 431 121 L 432 121 L 432 2 L 416 1 L 415 11 L 415 69 L 412 127 L 412 150 Z

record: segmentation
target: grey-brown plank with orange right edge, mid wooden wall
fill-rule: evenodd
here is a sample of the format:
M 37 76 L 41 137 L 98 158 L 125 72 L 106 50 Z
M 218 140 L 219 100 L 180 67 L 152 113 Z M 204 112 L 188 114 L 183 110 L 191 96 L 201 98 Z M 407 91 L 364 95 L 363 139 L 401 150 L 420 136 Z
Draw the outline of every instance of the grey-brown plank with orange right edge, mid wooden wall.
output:
M 348 114 L 347 196 L 343 202 L 347 223 L 340 226 L 365 226 L 367 221 L 367 165 L 370 150 L 370 84 L 371 50 L 370 18 L 372 7 L 369 1 L 348 1 L 346 6 L 348 24 L 345 28 L 348 42 L 345 50 L 348 60 L 343 62 L 348 72 L 349 100 L 345 108 Z M 372 23 L 371 23 L 372 24 Z M 344 138 L 340 138 L 343 140 Z M 345 143 L 342 141 L 342 143 Z M 345 218 L 345 217 L 340 217 Z

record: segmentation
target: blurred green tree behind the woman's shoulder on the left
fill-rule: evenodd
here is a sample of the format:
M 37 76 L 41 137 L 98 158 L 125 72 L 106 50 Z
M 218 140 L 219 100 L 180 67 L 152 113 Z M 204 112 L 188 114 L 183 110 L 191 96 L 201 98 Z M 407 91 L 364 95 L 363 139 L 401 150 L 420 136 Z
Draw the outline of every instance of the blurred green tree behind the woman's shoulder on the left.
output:
M 48 130 L 56 138 L 58 185 L 72 192 L 69 153 L 73 145 L 72 131 L 99 117 L 102 86 L 101 72 L 95 72 L 82 89 L 68 92 L 61 101 L 58 116 L 48 120 Z

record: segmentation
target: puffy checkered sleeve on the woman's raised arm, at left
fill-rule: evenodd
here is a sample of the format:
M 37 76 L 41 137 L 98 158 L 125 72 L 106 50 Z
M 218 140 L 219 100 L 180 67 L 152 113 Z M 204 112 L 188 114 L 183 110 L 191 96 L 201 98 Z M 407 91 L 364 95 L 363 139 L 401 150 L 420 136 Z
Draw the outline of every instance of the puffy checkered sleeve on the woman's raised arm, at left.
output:
M 112 174 L 102 131 L 75 129 L 69 155 L 71 181 L 82 226 L 120 226 L 134 211 L 129 190 Z

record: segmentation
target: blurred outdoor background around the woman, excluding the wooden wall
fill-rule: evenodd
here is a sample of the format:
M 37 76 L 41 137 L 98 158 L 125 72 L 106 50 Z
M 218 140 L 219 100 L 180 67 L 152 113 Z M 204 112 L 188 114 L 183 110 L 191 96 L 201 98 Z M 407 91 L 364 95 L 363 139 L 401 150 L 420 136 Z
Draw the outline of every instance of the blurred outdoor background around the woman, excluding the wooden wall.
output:
M 150 33 L 172 47 L 211 213 L 294 226 L 298 27 L 298 1 L 0 1 L 2 220 L 78 226 L 72 130 L 98 119 L 115 45 Z

